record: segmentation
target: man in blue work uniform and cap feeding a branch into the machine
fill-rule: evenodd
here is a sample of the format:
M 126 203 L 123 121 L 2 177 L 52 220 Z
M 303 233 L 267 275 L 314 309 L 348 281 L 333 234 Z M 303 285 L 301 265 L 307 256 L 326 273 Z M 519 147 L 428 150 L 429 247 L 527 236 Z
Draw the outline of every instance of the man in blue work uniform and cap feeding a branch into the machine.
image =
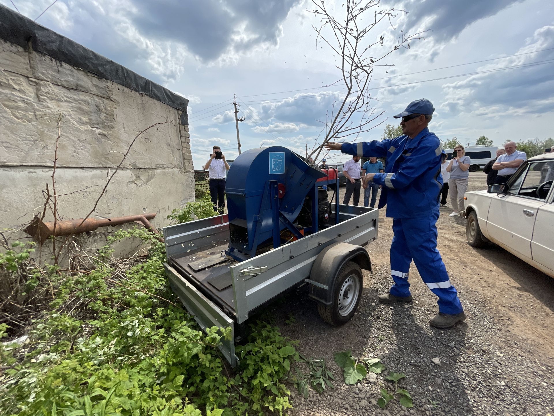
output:
M 360 157 L 386 158 L 384 173 L 367 174 L 365 182 L 382 185 L 379 208 L 387 205 L 387 217 L 393 218 L 389 293 L 379 296 L 381 303 L 411 302 L 408 272 L 412 260 L 427 287 L 439 297 L 439 313 L 429 319 L 437 328 L 448 328 L 466 316 L 458 292 L 437 250 L 440 175 L 443 149 L 440 140 L 430 133 L 433 104 L 427 99 L 410 103 L 394 118 L 402 118 L 402 136 L 396 139 L 363 143 L 328 143 L 329 150 Z

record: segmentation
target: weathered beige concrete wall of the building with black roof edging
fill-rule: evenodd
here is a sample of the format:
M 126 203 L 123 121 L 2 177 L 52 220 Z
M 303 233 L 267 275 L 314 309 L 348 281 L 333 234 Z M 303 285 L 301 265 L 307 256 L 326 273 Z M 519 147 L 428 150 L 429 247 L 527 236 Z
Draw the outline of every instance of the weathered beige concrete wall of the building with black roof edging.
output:
M 167 224 L 172 209 L 194 199 L 188 126 L 181 110 L 84 70 L 0 39 L 0 228 L 12 229 L 42 212 L 55 174 L 63 219 L 88 214 L 132 139 L 95 215 L 157 212 Z M 48 213 L 45 220 L 53 220 Z

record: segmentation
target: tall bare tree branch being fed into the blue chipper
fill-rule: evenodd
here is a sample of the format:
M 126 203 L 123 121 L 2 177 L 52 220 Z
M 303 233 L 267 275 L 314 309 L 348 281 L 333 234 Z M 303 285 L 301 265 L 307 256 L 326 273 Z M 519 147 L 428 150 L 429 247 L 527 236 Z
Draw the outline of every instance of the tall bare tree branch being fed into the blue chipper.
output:
M 321 144 L 319 137 L 316 139 L 314 149 L 308 156 L 310 158 L 316 154 L 314 159 L 317 160 L 325 143 L 349 136 L 357 138 L 361 133 L 375 128 L 386 120 L 379 121 L 376 125 L 370 125 L 384 114 L 382 111 L 374 116 L 375 108 L 372 107 L 374 99 L 369 92 L 373 68 L 392 66 L 380 62 L 400 47 L 408 49 L 411 40 L 421 39 L 422 36 L 421 33 L 407 35 L 401 31 L 393 46 L 383 52 L 378 50 L 378 48 L 386 48 L 383 36 L 379 35 L 377 39 L 370 41 L 368 40 L 370 31 L 383 21 L 386 24 L 387 20 L 395 29 L 393 20 L 396 19 L 398 13 L 406 13 L 406 11 L 394 8 L 376 9 L 380 0 L 345 0 L 342 4 L 344 10 L 340 10 L 341 2 L 339 2 L 336 4 L 336 8 L 339 10 L 335 11 L 327 8 L 325 0 L 311 1 L 315 8 L 308 9 L 307 12 L 320 19 L 319 27 L 312 25 L 317 33 L 316 48 L 319 48 L 319 43 L 322 41 L 331 48 L 335 55 L 338 55 L 340 64 L 337 65 L 337 69 L 341 72 L 342 83 L 346 89 L 345 92 L 338 94 L 341 97 L 340 102 L 334 98 L 331 116 L 327 112 L 325 121 L 319 120 L 325 126 L 325 138 Z M 375 9 L 373 16 L 370 14 L 372 9 Z M 342 18 L 336 17 L 341 14 Z

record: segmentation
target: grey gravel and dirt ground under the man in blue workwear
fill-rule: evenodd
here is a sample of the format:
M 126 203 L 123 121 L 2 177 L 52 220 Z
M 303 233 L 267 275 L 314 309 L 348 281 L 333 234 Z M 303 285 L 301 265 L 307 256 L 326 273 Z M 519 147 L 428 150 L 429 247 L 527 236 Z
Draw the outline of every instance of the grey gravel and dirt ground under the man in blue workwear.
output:
M 470 175 L 469 189 L 484 189 L 485 175 Z M 428 319 L 438 311 L 437 298 L 413 265 L 414 302 L 391 307 L 377 301 L 392 282 L 392 219 L 383 211 L 378 239 L 367 246 L 373 273 L 364 274 L 362 300 L 350 322 L 329 326 L 304 295 L 290 295 L 275 309 L 276 324 L 285 336 L 299 341 L 298 351 L 312 359 L 325 358 L 336 378 L 335 389 L 321 395 L 310 390 L 308 399 L 291 384 L 295 408 L 290 414 L 554 414 L 554 280 L 499 247 L 470 247 L 465 220 L 448 217 L 451 211 L 444 207 L 438 221 L 439 250 L 468 319 L 452 329 L 431 328 Z M 287 324 L 289 314 L 295 322 Z M 334 353 L 345 350 L 353 356 L 379 357 L 386 370 L 348 386 L 333 359 Z M 389 371 L 406 374 L 399 387 L 412 394 L 412 409 L 401 407 L 398 400 L 385 410 L 377 406 Z

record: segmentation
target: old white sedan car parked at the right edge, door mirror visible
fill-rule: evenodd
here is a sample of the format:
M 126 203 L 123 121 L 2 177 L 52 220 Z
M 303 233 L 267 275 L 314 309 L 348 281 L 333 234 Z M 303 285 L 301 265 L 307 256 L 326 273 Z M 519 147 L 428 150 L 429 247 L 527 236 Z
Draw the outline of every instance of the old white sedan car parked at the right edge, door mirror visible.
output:
M 527 160 L 506 184 L 464 195 L 466 236 L 492 241 L 554 277 L 554 153 Z

